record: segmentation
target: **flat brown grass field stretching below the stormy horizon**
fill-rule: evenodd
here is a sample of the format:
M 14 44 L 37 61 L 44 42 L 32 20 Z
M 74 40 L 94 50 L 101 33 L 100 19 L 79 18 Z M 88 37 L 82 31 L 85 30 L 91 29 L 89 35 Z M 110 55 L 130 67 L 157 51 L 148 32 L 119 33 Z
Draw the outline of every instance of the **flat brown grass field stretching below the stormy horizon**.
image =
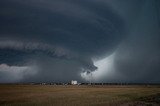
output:
M 160 106 L 160 86 L 0 85 L 2 106 Z

